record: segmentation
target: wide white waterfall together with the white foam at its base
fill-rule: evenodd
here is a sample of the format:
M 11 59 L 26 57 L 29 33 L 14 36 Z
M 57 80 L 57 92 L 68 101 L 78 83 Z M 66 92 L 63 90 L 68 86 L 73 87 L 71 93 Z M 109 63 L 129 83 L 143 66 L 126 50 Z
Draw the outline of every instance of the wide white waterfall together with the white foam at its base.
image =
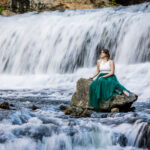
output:
M 72 93 L 80 77 L 94 74 L 104 47 L 110 50 L 119 81 L 139 101 L 149 101 L 149 20 L 149 2 L 0 16 L 0 89 Z

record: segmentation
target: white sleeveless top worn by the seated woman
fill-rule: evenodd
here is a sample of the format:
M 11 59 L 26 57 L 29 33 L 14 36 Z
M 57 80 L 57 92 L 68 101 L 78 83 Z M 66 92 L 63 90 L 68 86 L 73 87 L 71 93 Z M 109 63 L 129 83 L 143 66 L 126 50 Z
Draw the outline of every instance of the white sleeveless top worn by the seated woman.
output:
M 111 71 L 110 69 L 110 60 L 107 62 L 101 61 L 99 65 L 100 73 L 109 73 Z

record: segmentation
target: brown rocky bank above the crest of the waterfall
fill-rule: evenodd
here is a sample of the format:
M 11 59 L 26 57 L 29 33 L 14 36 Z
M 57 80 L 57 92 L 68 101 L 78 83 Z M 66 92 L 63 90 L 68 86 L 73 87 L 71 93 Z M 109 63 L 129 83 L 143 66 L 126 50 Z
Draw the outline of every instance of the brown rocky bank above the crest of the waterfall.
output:
M 26 12 L 43 12 L 65 9 L 96 9 L 127 5 L 123 0 L 2 0 L 0 2 L 0 15 L 9 16 Z M 139 0 L 133 0 L 137 1 Z M 143 2 L 143 0 L 140 0 Z

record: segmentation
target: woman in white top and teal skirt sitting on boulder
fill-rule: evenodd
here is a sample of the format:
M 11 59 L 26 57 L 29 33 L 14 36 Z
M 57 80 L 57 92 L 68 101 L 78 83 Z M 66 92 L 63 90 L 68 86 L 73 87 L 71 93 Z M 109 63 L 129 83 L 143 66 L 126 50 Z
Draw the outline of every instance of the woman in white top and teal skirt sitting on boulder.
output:
M 97 60 L 97 71 L 92 77 L 88 78 L 88 80 L 93 80 L 98 75 L 90 84 L 89 105 L 100 108 L 100 105 L 108 99 L 113 100 L 117 94 L 130 96 L 131 92 L 120 84 L 114 72 L 115 65 L 114 61 L 110 59 L 109 50 L 101 49 L 100 59 Z

